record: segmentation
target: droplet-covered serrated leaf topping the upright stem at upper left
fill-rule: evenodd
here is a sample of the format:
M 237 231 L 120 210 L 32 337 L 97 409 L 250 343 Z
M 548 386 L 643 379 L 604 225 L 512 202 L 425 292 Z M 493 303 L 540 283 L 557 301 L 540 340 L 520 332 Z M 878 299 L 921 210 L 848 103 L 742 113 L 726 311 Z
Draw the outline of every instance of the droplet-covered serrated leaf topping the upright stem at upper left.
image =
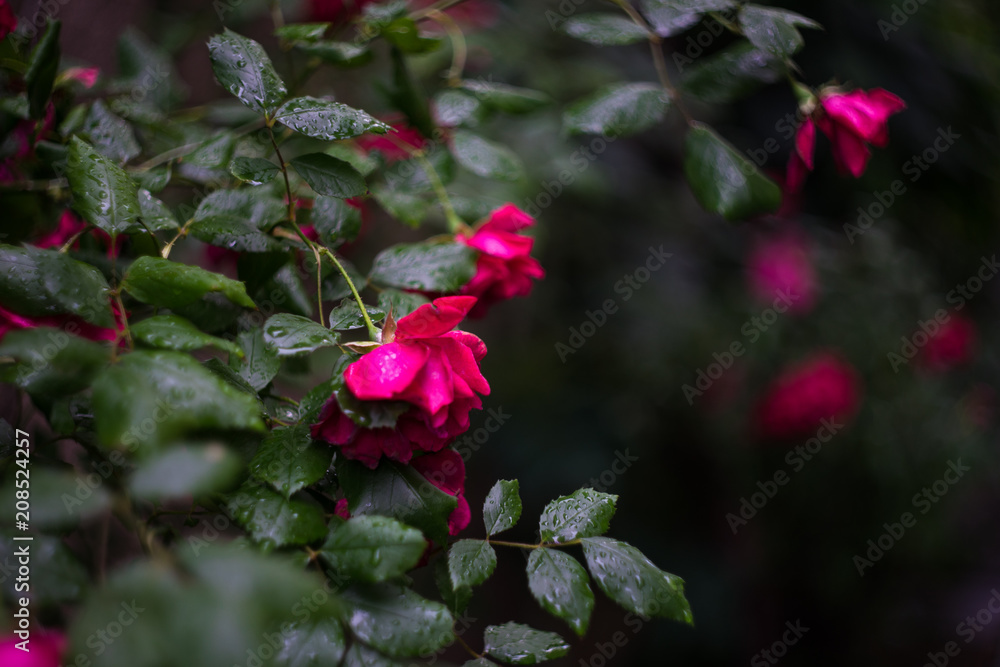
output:
M 288 94 L 264 48 L 252 39 L 227 28 L 208 40 L 208 55 L 222 87 L 257 113 L 271 115 Z

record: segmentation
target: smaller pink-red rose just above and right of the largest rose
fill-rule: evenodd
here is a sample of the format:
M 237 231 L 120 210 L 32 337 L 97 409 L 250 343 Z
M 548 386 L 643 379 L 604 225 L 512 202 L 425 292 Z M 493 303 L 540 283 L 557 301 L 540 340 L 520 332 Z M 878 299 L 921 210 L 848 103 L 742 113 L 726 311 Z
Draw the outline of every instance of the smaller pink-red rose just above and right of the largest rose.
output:
M 459 233 L 455 237 L 479 251 L 476 275 L 461 291 L 479 299 L 472 310 L 473 317 L 482 317 L 498 301 L 527 296 L 532 280 L 545 277 L 542 265 L 531 256 L 535 240 L 517 233 L 533 224 L 530 215 L 513 204 L 505 204 L 493 211 L 471 236 Z

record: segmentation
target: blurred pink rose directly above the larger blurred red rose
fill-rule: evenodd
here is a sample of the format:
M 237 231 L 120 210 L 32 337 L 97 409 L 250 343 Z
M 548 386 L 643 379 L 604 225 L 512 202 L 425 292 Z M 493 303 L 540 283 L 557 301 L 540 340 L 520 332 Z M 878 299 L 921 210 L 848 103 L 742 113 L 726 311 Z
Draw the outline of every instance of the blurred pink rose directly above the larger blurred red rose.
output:
M 805 313 L 816 303 L 816 271 L 809 248 L 796 233 L 759 240 L 747 260 L 750 292 L 763 303 L 785 299 L 792 312 Z

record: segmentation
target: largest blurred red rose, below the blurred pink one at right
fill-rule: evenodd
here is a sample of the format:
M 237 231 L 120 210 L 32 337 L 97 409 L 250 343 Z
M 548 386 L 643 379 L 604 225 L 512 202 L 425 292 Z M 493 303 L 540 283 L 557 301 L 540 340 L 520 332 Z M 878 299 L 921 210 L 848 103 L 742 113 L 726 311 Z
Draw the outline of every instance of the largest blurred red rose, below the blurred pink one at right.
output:
M 786 368 L 757 405 L 757 431 L 768 439 L 814 435 L 823 420 L 846 422 L 857 411 L 860 379 L 853 366 L 819 352 Z

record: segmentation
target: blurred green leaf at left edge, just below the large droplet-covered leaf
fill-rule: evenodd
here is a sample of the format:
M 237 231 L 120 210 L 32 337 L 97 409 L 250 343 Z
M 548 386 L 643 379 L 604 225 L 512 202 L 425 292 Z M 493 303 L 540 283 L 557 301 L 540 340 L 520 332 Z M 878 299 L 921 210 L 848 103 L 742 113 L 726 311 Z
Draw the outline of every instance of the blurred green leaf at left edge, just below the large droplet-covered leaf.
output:
M 32 396 L 66 396 L 90 386 L 110 361 L 110 348 L 72 335 L 79 326 L 36 327 L 9 331 L 0 343 L 0 357 L 14 360 L 0 366 L 0 380 Z

